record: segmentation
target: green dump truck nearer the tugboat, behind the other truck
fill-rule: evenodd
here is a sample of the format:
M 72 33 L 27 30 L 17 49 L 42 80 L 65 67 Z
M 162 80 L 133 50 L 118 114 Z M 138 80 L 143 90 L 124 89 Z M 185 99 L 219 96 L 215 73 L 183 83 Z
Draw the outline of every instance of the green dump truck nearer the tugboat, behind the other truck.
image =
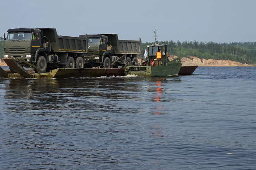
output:
M 141 39 L 119 40 L 117 34 L 95 34 L 88 36 L 88 54 L 85 55 L 87 67 L 100 66 L 112 68 L 137 65 L 141 55 Z M 79 37 L 85 38 L 86 35 Z

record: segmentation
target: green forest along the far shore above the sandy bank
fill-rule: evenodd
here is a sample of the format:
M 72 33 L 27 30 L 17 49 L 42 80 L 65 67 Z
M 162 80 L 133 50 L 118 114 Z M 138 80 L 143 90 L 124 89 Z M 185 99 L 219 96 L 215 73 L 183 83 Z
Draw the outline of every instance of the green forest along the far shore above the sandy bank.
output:
M 162 43 L 162 42 L 157 42 Z M 223 59 L 241 63 L 256 63 L 256 42 L 197 42 L 164 41 L 168 47 L 168 54 L 179 57 L 196 56 L 205 59 Z M 147 45 L 152 42 L 142 43 L 142 53 Z M 4 41 L 0 37 L 0 58 L 4 56 Z M 143 55 L 142 54 L 142 55 Z

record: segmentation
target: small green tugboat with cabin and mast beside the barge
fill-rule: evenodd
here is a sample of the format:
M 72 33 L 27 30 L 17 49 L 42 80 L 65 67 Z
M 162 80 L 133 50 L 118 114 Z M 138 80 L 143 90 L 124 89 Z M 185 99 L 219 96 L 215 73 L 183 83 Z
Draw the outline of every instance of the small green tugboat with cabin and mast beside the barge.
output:
M 167 45 L 156 44 L 156 30 L 155 42 L 147 46 L 147 61 L 141 65 L 130 65 L 125 67 L 125 75 L 137 75 L 141 77 L 168 77 L 178 75 L 181 68 L 180 58 L 175 58 L 172 61 L 168 60 L 166 56 Z M 161 55 L 160 55 L 161 54 Z

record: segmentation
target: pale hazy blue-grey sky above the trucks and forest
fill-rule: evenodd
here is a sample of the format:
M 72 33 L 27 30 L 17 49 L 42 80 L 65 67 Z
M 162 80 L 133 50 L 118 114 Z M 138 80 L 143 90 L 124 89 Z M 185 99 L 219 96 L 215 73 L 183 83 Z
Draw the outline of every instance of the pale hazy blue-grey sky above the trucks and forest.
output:
M 119 39 L 256 41 L 256 0 L 1 1 L 0 33 L 57 28 L 59 35 L 117 33 Z

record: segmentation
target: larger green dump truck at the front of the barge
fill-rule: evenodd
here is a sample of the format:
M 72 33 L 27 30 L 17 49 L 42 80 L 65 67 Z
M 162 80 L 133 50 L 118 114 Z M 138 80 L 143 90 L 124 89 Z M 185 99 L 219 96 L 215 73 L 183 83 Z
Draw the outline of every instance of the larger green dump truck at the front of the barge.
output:
M 86 36 L 57 35 L 55 28 L 15 28 L 7 32 L 7 37 L 4 34 L 4 57 L 13 58 L 23 67 L 44 73 L 54 68 L 84 66 L 88 47 Z

